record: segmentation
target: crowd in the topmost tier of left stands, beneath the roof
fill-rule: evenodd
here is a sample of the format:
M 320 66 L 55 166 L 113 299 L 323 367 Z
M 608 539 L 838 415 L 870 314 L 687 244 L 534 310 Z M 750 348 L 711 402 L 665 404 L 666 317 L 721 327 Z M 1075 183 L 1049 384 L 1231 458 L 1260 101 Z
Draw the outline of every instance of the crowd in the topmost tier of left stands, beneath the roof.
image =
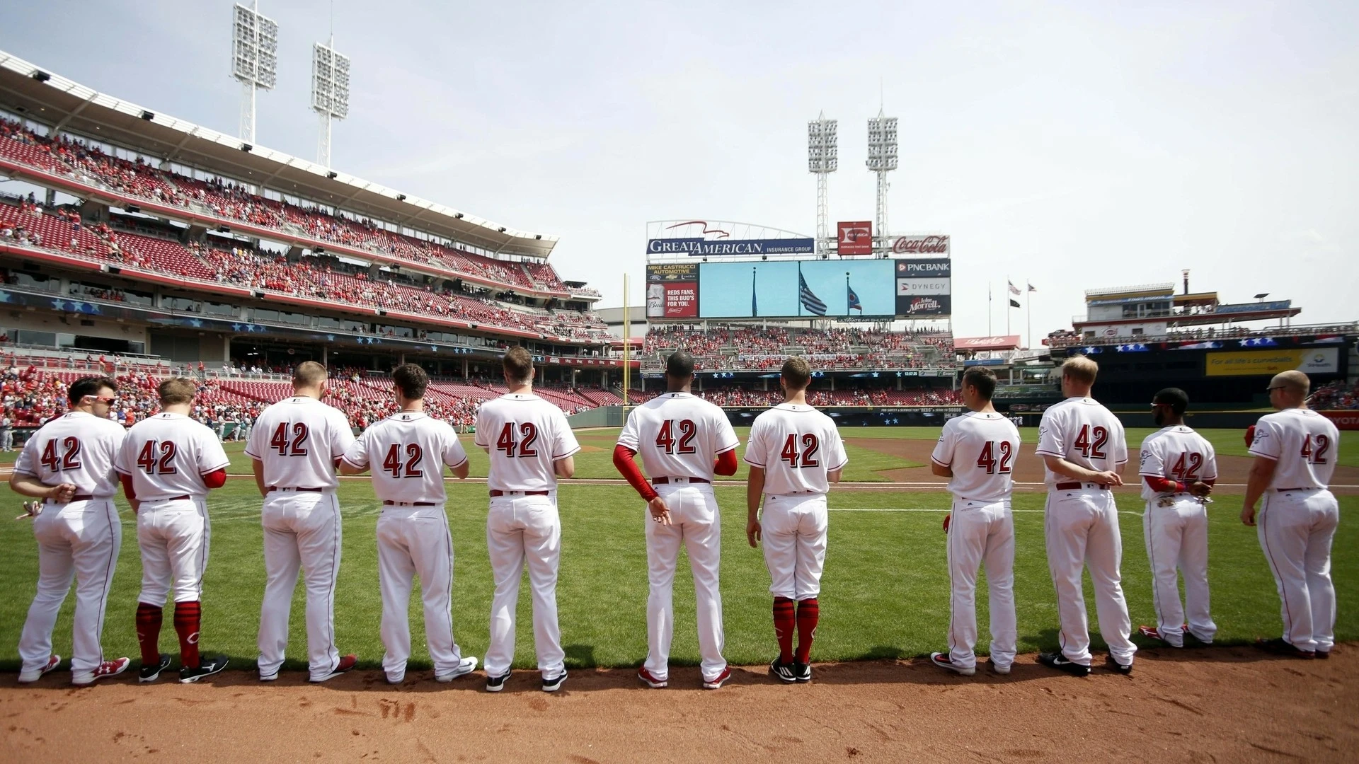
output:
M 0 156 L 46 170 L 80 175 L 116 192 L 160 204 L 198 208 L 219 219 L 306 235 L 374 254 L 435 268 L 451 276 L 470 276 L 512 288 L 568 294 L 549 264 L 493 260 L 439 242 L 389 231 L 372 220 L 332 213 L 322 208 L 257 196 L 247 186 L 223 178 L 193 178 L 160 170 L 141 158 L 128 160 L 96 145 L 61 135 L 56 140 L 0 117 Z

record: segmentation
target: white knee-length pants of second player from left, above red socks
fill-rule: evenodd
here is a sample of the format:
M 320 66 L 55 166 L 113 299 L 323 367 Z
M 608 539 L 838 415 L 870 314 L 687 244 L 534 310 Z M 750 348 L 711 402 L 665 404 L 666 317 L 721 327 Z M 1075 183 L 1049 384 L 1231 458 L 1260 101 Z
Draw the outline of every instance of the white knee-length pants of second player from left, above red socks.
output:
M 202 595 L 211 534 L 202 499 L 143 502 L 137 510 L 137 548 L 141 551 L 137 602 L 159 608 L 171 586 L 175 602 L 197 602 Z

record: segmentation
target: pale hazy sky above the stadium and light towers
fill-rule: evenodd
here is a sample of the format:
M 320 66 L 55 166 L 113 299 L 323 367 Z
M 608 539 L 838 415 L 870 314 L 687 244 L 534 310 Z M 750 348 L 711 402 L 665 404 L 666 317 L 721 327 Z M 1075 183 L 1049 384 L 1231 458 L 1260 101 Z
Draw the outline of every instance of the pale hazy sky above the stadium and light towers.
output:
M 333 166 L 557 234 L 602 306 L 644 295 L 647 220 L 813 234 L 806 121 L 840 120 L 830 219 L 874 216 L 866 120 L 900 118 L 894 232 L 953 237 L 954 330 L 1033 334 L 1094 287 L 1180 281 L 1359 318 L 1359 3 L 334 3 L 351 118 Z M 1131 4 L 1129 4 L 1131 5 Z M 265 0 L 257 144 L 315 158 L 330 3 Z M 234 133 L 231 3 L 12 3 L 0 48 Z M 881 88 L 881 90 L 879 90 Z M 0 94 L 3 99 L 3 94 Z M 1029 295 L 1025 296 L 1025 299 Z M 1014 311 L 1021 333 L 1025 315 Z

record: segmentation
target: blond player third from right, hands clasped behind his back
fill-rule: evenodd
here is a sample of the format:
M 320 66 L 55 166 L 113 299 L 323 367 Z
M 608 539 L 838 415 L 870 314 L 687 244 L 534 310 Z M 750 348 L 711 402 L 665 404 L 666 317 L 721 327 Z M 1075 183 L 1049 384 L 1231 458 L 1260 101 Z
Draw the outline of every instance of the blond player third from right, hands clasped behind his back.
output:
M 1061 364 L 1065 400 L 1049 406 L 1038 424 L 1038 455 L 1048 485 L 1044 536 L 1061 623 L 1061 650 L 1042 653 L 1038 661 L 1080 677 L 1090 674 L 1082 568 L 1090 571 L 1094 583 L 1099 633 L 1109 644 L 1109 666 L 1131 673 L 1137 651 L 1129 639 L 1132 621 L 1118 572 L 1123 538 L 1118 536 L 1118 507 L 1110 492 L 1123 485 L 1128 445 L 1123 423 L 1090 397 L 1098 371 L 1095 362 L 1086 356 L 1067 359 Z

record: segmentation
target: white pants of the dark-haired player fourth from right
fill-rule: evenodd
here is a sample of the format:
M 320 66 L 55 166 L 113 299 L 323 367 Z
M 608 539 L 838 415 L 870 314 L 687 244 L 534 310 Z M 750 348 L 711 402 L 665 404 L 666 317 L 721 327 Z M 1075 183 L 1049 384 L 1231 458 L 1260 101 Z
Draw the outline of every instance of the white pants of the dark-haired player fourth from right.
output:
M 954 498 L 949 521 L 949 659 L 974 667 L 977 655 L 977 568 L 987 566 L 991 595 L 991 662 L 1015 661 L 1015 523 L 1010 500 L 977 502 Z

